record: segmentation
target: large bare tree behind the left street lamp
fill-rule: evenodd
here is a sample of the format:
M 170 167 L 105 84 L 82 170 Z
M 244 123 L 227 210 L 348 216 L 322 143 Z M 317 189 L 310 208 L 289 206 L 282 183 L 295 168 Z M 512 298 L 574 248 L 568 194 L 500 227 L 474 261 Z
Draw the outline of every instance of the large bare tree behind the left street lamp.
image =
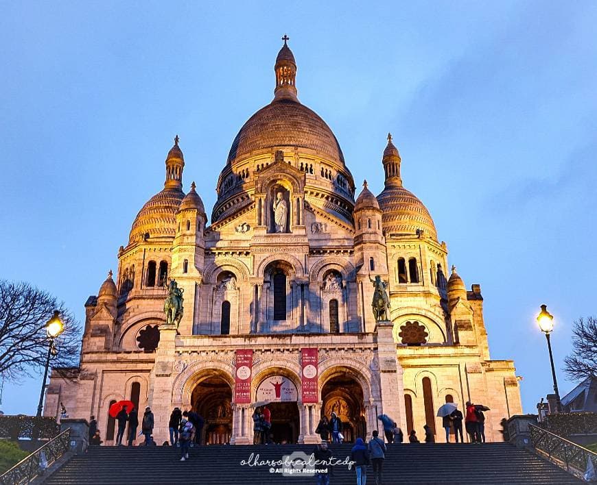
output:
M 28 283 L 0 279 L 1 376 L 15 381 L 43 371 L 49 345 L 45 324 L 54 310 L 60 312 L 65 329 L 55 340 L 50 365 L 54 369 L 77 366 L 80 327 L 64 303 Z

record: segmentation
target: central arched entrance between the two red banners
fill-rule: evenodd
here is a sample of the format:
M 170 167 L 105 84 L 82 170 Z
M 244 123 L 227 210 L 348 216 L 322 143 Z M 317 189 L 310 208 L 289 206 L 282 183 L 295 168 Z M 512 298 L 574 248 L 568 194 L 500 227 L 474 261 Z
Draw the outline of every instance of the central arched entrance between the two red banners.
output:
M 298 399 L 294 382 L 284 375 L 270 375 L 257 386 L 256 404 L 267 406 L 271 413 L 270 441 L 273 443 L 299 442 Z

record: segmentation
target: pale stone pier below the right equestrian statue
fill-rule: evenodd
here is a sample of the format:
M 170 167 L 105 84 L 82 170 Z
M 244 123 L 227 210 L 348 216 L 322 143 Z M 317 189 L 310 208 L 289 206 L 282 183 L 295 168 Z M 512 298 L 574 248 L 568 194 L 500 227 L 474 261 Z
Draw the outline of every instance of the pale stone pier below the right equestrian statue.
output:
M 403 371 L 398 361 L 393 324 L 390 321 L 377 322 L 377 356 L 382 391 L 382 408 L 377 411 L 379 414 L 387 414 L 398 423 L 402 430 L 406 430 Z

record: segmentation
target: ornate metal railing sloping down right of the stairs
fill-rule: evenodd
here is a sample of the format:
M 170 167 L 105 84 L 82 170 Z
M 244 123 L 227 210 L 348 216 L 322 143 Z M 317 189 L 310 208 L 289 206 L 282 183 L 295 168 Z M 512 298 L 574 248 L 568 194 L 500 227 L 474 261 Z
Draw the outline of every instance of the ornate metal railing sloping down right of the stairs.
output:
M 572 443 L 572 441 L 539 426 L 529 424 L 528 431 L 530 443 L 535 450 L 568 473 L 582 479 L 589 459 L 597 469 L 597 453 L 594 451 Z

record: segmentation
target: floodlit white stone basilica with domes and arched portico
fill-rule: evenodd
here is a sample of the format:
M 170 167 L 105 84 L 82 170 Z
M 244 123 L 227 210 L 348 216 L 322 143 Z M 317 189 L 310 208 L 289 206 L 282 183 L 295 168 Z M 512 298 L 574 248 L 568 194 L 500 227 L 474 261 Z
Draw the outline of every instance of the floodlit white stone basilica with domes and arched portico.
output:
M 487 440 L 502 440 L 500 421 L 522 412 L 519 382 L 513 361 L 489 356 L 480 286 L 448 269 L 391 136 L 371 169 L 384 190 L 355 186 L 336 136 L 299 101 L 283 40 L 274 98 L 234 138 L 211 221 L 174 139 L 163 190 L 87 299 L 80 366 L 70 379 L 54 371 L 45 415 L 61 403 L 71 418 L 95 415 L 110 444 L 108 408 L 128 399 L 140 414 L 152 408 L 162 443 L 172 409 L 192 408 L 204 443 L 242 445 L 268 403 L 276 443 L 318 442 L 331 412 L 348 442 L 382 430 L 379 414 L 405 433 L 428 424 L 443 441 L 436 410 L 473 401 L 491 409 Z M 376 284 L 389 301 L 380 318 Z

